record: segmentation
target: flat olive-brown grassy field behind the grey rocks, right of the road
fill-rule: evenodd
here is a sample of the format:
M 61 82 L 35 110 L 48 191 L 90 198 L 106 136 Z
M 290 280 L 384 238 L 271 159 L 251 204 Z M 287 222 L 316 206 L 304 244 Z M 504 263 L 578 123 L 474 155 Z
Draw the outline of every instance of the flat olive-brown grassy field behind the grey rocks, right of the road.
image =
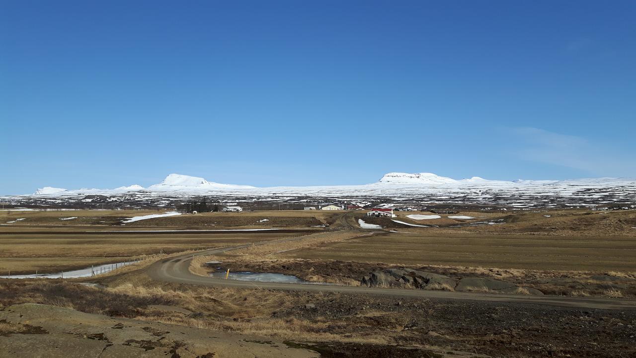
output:
M 282 257 L 389 264 L 636 271 L 636 237 L 384 233 Z

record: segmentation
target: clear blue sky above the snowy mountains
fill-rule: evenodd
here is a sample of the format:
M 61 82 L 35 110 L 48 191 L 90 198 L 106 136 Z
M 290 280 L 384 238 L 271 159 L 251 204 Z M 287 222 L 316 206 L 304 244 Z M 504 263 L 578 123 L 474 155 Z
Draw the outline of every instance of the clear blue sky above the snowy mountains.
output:
M 634 1 L 1 1 L 0 194 L 636 176 Z

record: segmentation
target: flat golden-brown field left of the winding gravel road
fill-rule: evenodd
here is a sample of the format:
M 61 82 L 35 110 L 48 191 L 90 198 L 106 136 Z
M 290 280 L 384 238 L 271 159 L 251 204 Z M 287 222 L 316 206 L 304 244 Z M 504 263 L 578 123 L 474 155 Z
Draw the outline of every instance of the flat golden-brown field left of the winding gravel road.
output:
M 184 214 L 121 225 L 126 218 L 156 210 L 0 211 L 0 275 L 56 272 L 121 262 L 131 257 L 275 240 L 303 233 L 109 234 L 107 231 L 311 227 L 333 222 L 325 211 L 252 211 Z M 77 217 L 71 220 L 61 218 Z M 24 218 L 24 220 L 17 220 Z M 260 221 L 263 219 L 267 221 Z M 15 221 L 13 223 L 9 223 Z M 95 233 L 105 231 L 105 233 Z

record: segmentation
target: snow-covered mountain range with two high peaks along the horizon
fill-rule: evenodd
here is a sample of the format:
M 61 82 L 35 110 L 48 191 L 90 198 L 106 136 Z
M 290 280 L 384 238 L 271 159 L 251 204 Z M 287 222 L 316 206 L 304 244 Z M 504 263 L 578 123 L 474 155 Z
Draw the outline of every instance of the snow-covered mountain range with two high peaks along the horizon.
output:
M 99 196 L 99 198 L 95 198 Z M 27 196 L 6 196 L 11 203 L 143 203 L 169 205 L 196 196 L 230 201 L 284 200 L 307 203 L 308 197 L 336 201 L 480 206 L 568 207 L 636 203 L 636 179 L 591 178 L 576 180 L 487 180 L 478 176 L 456 180 L 432 173 L 387 173 L 378 182 L 363 185 L 313 187 L 252 187 L 209 182 L 197 176 L 170 174 L 147 188 L 130 185 L 116 189 L 38 189 Z M 87 204 L 88 205 L 88 204 Z

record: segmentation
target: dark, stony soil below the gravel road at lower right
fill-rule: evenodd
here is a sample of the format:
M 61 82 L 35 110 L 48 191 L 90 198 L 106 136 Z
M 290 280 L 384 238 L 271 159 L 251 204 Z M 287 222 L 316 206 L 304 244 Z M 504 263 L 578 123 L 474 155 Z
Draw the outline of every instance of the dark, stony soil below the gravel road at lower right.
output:
M 315 308 L 303 304 L 275 317 L 328 317 L 330 333 L 386 333 L 398 343 L 492 357 L 636 357 L 636 311 L 343 294 L 313 303 Z

